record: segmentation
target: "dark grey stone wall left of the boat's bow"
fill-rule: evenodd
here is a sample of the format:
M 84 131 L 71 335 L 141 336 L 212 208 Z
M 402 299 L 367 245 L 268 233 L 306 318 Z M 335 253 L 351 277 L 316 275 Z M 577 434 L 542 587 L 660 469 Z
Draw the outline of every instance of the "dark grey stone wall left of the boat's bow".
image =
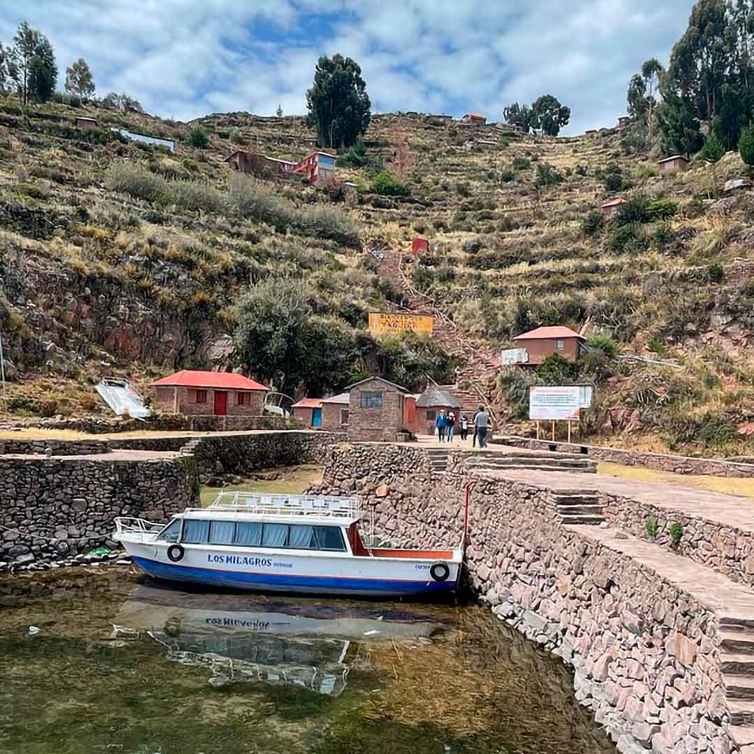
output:
M 198 503 L 192 458 L 106 461 L 0 456 L 0 562 L 115 546 L 115 516 L 161 521 Z

